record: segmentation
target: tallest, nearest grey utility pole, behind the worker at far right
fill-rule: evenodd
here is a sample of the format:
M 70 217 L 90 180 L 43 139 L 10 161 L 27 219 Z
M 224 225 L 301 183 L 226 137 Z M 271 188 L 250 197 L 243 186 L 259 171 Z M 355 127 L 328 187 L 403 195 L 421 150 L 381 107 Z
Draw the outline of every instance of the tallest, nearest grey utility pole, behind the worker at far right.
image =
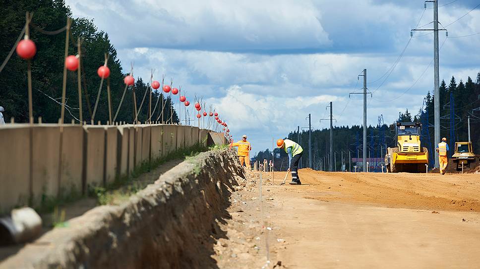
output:
M 438 0 L 425 1 L 426 3 L 433 3 L 433 29 L 412 29 L 410 36 L 413 36 L 413 31 L 433 31 L 433 104 L 434 104 L 434 121 L 433 126 L 435 142 L 440 142 L 440 75 L 439 75 L 439 56 L 438 56 L 438 31 L 446 31 L 446 29 L 438 29 Z M 448 35 L 447 35 L 448 36 Z M 435 97 L 436 96 L 436 97 Z M 440 167 L 438 161 L 438 154 L 435 154 L 435 168 Z

